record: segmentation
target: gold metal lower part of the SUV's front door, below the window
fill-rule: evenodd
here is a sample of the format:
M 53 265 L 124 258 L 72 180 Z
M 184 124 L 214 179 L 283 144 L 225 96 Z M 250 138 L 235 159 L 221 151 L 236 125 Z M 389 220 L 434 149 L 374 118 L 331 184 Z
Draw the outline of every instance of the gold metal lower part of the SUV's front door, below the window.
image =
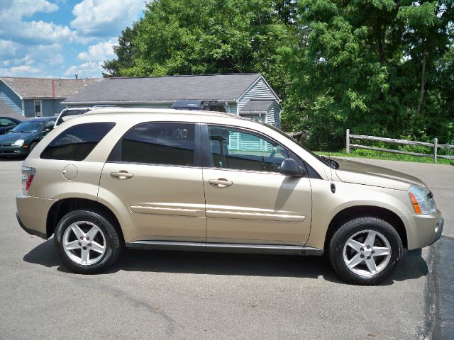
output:
M 220 187 L 210 179 L 227 179 Z M 304 244 L 311 226 L 307 178 L 204 169 L 206 242 Z

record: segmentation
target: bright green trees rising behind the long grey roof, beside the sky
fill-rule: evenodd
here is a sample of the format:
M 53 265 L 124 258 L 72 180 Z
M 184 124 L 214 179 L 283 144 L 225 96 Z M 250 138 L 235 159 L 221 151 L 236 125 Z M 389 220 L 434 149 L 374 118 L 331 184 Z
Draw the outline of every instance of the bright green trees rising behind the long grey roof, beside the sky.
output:
M 153 1 L 135 23 L 136 35 L 123 31 L 117 58 L 104 68 L 129 77 L 262 72 L 284 95 L 282 50 L 289 45 L 293 2 Z

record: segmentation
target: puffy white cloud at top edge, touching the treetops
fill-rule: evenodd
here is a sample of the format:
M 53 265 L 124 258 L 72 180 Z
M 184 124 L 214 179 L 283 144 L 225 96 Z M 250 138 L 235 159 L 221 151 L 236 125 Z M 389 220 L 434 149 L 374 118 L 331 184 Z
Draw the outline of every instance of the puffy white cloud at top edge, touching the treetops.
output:
M 137 18 L 144 0 L 83 0 L 74 6 L 71 27 L 84 35 L 111 36 Z

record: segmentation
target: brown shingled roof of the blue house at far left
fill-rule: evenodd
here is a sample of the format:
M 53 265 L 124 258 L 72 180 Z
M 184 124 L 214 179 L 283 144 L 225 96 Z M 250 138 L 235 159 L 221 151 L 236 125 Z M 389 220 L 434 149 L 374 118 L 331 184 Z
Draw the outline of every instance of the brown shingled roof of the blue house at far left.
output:
M 77 92 L 86 89 L 89 85 L 99 82 L 101 79 L 1 77 L 0 80 L 9 86 L 9 88 L 22 99 L 32 99 L 67 98 L 69 96 L 74 96 Z

